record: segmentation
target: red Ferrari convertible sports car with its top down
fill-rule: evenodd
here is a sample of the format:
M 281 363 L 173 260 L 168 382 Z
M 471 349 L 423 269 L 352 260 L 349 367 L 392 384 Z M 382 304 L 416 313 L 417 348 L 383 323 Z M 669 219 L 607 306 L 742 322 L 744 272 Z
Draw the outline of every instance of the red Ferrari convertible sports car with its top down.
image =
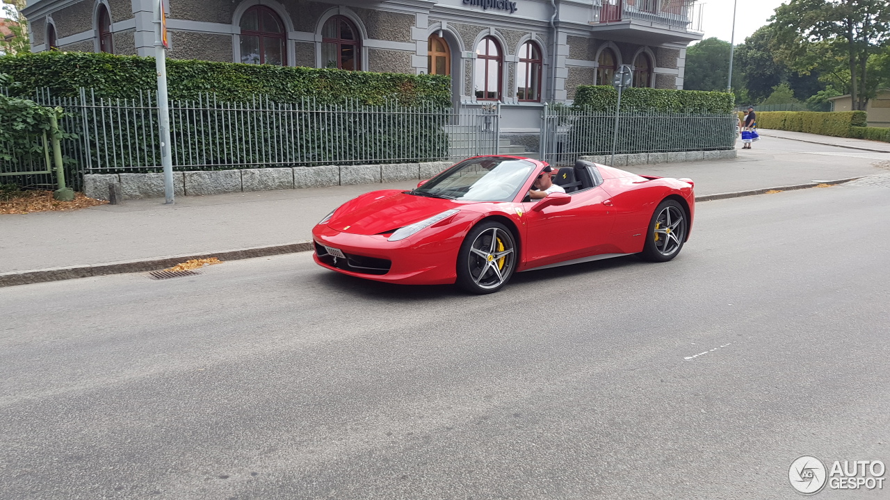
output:
M 359 278 L 457 283 L 489 294 L 524 270 L 627 254 L 669 261 L 689 238 L 695 197 L 688 179 L 578 160 L 554 170 L 565 193 L 531 200 L 545 170 L 530 158 L 472 157 L 415 190 L 369 192 L 315 226 L 313 257 Z

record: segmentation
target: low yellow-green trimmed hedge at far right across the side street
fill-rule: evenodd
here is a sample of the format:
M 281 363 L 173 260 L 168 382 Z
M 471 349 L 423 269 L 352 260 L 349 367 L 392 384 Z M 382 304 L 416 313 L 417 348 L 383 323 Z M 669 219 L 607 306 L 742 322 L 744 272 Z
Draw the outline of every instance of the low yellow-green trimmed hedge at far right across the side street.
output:
M 743 116 L 742 113 L 739 115 Z M 773 130 L 819 133 L 835 137 L 854 137 L 852 127 L 867 125 L 865 111 L 764 111 L 757 113 L 757 126 Z

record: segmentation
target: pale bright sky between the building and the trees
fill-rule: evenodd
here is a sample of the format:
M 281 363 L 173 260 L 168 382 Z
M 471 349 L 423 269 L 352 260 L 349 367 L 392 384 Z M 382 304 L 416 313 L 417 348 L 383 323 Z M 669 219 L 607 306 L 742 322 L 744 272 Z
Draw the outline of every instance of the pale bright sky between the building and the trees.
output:
M 730 41 L 732 2 L 733 0 L 700 0 L 700 3 L 704 4 L 705 10 L 702 19 L 705 38 L 716 36 L 721 40 Z M 766 24 L 776 7 L 787 3 L 788 0 L 738 0 L 738 2 L 735 18 L 735 43 L 741 44 L 757 28 Z

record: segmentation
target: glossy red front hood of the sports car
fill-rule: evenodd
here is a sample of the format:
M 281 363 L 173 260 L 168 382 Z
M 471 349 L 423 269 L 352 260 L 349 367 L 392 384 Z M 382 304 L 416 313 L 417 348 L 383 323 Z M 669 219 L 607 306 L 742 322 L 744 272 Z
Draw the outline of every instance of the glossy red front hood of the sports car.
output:
M 405 194 L 404 190 L 372 191 L 337 208 L 328 226 L 353 234 L 380 234 L 462 205 L 450 199 Z

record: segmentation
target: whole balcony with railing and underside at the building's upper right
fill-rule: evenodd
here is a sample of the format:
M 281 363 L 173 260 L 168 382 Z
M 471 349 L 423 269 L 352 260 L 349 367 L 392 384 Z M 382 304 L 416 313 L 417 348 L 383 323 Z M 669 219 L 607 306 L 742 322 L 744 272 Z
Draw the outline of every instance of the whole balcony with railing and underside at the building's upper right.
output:
M 696 0 L 594 0 L 595 35 L 636 44 L 688 44 L 700 40 L 702 9 Z

